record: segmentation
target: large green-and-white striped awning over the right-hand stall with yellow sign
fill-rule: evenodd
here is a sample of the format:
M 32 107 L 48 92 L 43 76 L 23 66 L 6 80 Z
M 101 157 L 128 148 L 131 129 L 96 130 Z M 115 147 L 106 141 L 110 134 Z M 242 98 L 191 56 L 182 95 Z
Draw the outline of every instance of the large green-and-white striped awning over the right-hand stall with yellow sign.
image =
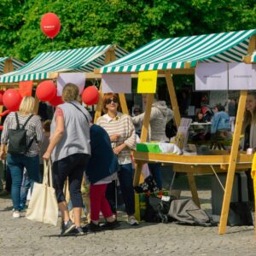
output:
M 256 29 L 157 39 L 100 69 L 100 73 L 132 73 L 183 68 L 186 62 L 241 62 Z

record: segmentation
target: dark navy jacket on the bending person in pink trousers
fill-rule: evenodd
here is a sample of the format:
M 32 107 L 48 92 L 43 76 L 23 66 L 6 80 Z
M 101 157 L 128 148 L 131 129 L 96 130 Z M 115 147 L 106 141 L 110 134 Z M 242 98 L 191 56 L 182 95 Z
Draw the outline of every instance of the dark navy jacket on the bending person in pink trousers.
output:
M 90 183 L 96 183 L 119 171 L 118 159 L 113 154 L 108 132 L 99 125 L 90 127 L 90 150 L 90 159 L 85 171 Z

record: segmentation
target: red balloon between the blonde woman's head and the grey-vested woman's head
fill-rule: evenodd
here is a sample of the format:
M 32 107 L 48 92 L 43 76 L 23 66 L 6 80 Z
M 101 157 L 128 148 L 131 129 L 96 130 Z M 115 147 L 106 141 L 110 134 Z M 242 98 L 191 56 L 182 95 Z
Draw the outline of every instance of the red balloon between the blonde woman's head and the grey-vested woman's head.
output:
M 36 95 L 41 102 L 49 102 L 56 95 L 57 89 L 55 83 L 52 81 L 44 81 L 38 84 Z

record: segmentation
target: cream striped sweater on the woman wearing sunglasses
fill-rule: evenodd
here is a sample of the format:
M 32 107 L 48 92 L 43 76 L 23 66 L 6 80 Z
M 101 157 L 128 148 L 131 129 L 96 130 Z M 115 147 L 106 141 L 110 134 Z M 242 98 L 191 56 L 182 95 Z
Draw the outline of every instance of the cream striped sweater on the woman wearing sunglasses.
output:
M 118 112 L 117 116 L 112 119 L 106 113 L 97 119 L 96 125 L 102 126 L 108 132 L 109 137 L 114 134 L 120 135 L 117 142 L 112 143 L 112 148 L 125 143 L 127 147 L 118 154 L 119 165 L 130 164 L 131 150 L 136 149 L 136 133 L 131 116 Z

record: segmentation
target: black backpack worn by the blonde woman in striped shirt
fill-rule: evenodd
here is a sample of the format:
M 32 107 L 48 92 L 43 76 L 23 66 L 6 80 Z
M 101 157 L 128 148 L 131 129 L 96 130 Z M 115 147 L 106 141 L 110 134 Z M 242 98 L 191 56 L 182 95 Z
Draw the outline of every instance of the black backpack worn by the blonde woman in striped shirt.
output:
M 8 144 L 8 153 L 9 154 L 26 154 L 27 150 L 32 146 L 32 140 L 26 145 L 26 129 L 25 126 L 27 122 L 32 118 L 31 114 L 27 119 L 24 125 L 20 128 L 20 123 L 18 119 L 18 114 L 15 113 L 15 118 L 17 122 L 16 129 L 9 129 L 9 144 Z

